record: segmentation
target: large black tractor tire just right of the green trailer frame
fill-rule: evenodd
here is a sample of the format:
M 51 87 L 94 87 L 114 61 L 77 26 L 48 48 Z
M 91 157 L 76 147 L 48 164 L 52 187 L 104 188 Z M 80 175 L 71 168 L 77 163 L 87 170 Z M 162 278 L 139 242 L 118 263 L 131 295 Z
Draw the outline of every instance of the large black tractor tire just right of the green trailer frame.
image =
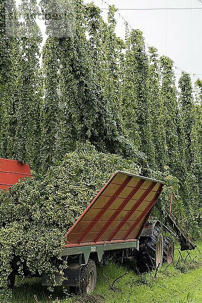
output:
M 161 225 L 156 225 L 153 235 L 140 237 L 137 269 L 140 273 L 160 268 L 163 263 L 163 236 Z

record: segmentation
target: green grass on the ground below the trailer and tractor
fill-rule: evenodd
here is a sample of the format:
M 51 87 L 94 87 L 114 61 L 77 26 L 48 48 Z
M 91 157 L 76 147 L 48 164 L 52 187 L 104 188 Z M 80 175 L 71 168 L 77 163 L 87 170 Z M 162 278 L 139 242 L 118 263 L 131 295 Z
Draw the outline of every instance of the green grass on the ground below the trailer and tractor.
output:
M 197 243 L 202 251 L 202 243 Z M 52 294 L 41 286 L 40 279 L 24 279 L 12 290 L 12 303 L 202 303 L 202 261 L 195 249 L 190 252 L 175 250 L 175 266 L 167 265 L 157 272 L 138 276 L 133 265 L 126 266 L 110 263 L 109 266 L 99 266 L 97 269 L 97 286 L 92 296 L 86 298 L 67 295 L 64 298 L 62 289 L 58 288 Z M 194 260 L 193 258 L 197 256 Z M 186 258 L 186 262 L 184 262 Z M 179 260 L 179 261 L 178 261 Z M 177 266 L 176 266 L 177 265 Z M 109 282 L 128 272 L 114 284 L 115 291 L 110 289 Z M 105 278 L 108 277 L 109 281 Z M 1 300 L 0 300 L 1 302 Z M 5 301 L 9 303 L 9 297 Z

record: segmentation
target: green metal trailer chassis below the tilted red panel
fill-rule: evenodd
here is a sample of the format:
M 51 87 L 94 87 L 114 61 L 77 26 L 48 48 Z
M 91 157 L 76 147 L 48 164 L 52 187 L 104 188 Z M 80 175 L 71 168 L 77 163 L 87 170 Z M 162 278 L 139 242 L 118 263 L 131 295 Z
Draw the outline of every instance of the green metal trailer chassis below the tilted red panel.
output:
M 95 244 L 85 243 L 78 247 L 66 247 L 62 252 L 62 258 L 67 262 L 68 267 L 63 270 L 63 276 L 59 273 L 55 275 L 55 281 L 42 275 L 42 285 L 52 286 L 56 282 L 58 285 L 78 286 L 81 277 L 81 269 L 93 260 L 95 264 L 106 264 L 108 259 L 114 259 L 123 263 L 123 260 L 133 257 L 139 249 L 139 241 L 124 241 L 115 243 Z

